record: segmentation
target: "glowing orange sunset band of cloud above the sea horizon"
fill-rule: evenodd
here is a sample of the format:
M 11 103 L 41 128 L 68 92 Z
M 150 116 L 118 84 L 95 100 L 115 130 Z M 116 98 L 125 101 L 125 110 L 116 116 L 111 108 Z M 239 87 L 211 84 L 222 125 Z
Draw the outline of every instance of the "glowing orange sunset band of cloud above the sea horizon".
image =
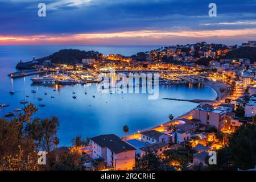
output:
M 177 37 L 183 38 L 233 38 L 237 36 L 255 37 L 256 28 L 246 28 L 243 30 L 191 30 L 191 31 L 159 31 L 159 30 L 141 30 L 141 31 L 124 31 L 113 33 L 94 33 L 94 34 L 61 34 L 56 35 L 33 35 L 33 36 L 1 36 L 1 45 L 45 45 L 45 44 L 100 44 L 113 40 L 129 40 L 131 38 L 140 40 L 157 40 L 172 39 Z

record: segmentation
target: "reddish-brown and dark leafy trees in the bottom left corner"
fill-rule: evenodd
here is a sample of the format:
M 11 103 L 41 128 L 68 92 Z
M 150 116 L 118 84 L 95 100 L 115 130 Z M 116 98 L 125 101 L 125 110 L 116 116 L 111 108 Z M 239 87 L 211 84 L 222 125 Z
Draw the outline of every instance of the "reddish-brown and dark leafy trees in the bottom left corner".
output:
M 39 170 L 38 152 L 50 151 L 57 144 L 57 118 L 39 119 L 33 122 L 37 108 L 29 104 L 18 118 L 0 119 L 0 170 Z

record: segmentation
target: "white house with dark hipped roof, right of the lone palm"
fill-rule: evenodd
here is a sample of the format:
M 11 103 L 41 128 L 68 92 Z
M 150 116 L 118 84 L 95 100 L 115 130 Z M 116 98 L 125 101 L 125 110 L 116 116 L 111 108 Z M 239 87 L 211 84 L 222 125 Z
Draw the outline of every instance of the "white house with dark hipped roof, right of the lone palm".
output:
M 150 144 L 156 143 L 156 142 L 168 143 L 169 135 L 164 134 L 160 131 L 149 130 L 149 131 L 144 131 L 141 133 L 141 140 L 142 140 L 142 142 L 147 142 Z

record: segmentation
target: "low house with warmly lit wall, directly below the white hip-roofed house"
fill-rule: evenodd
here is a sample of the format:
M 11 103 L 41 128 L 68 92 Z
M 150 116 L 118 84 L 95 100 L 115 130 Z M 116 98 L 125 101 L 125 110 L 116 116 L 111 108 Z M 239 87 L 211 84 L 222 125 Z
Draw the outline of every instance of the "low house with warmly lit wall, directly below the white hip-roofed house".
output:
M 141 148 L 141 157 L 145 155 L 148 151 L 154 152 L 156 155 L 160 155 L 163 151 L 168 150 L 168 144 L 163 142 L 158 142 L 154 144 L 150 144 L 146 147 Z

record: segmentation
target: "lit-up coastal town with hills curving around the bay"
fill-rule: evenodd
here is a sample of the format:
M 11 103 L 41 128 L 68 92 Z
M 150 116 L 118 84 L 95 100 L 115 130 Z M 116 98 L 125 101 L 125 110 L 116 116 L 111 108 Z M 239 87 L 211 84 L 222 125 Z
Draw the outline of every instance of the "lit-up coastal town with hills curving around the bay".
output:
M 236 144 L 231 136 L 237 130 L 256 123 L 255 47 L 256 41 L 241 46 L 201 42 L 162 47 L 130 57 L 65 49 L 42 59 L 20 61 L 16 68 L 30 70 L 10 73 L 10 76 L 46 74 L 31 78 L 31 81 L 87 84 L 100 82 L 100 73 L 110 73 L 114 69 L 122 73 L 159 73 L 159 84 L 163 85 L 208 85 L 217 93 L 214 101 L 193 101 L 199 104 L 195 109 L 178 118 L 170 113 L 170 121 L 163 121 L 160 126 L 138 130 L 126 137 L 102 134 L 86 142 L 76 138 L 75 146 L 48 151 L 58 156 L 57 161 L 63 160 L 61 155 L 79 151 L 79 162 L 76 162 L 82 163 L 84 170 L 160 170 L 160 164 L 152 165 L 155 168 L 147 166 L 150 161 L 146 160 L 150 159 L 152 163 L 168 161 L 163 163 L 163 170 L 203 170 L 212 167 L 207 160 L 210 151 L 221 155 L 226 147 Z M 249 52 L 246 57 L 240 57 L 245 51 Z M 62 60 L 67 52 L 69 58 Z M 124 126 L 123 132 L 129 133 L 129 126 Z M 245 164 L 241 169 L 254 169 L 254 165 Z

